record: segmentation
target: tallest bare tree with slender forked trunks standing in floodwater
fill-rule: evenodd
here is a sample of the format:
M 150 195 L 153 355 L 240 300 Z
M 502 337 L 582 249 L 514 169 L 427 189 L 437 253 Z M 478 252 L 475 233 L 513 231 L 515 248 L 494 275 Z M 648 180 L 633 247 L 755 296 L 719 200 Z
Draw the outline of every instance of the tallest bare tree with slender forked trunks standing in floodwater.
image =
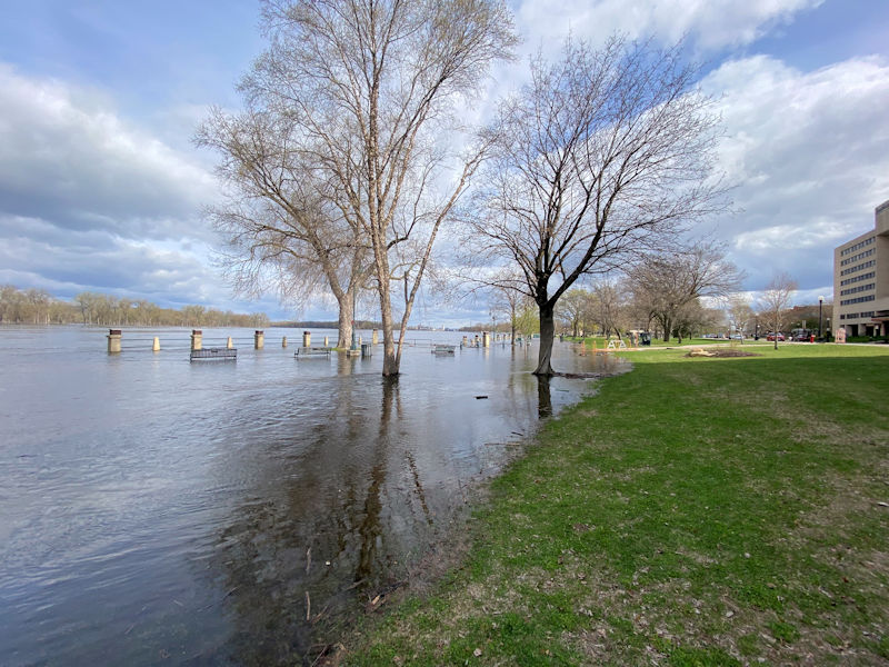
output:
M 402 346 L 396 350 L 392 295 L 403 296 L 403 340 L 436 236 L 485 148 L 455 161 L 442 138 L 453 104 L 510 54 L 511 13 L 502 0 L 267 0 L 263 27 L 270 46 L 242 90 L 300 126 L 343 218 L 362 230 L 380 299 L 382 372 L 396 376 Z

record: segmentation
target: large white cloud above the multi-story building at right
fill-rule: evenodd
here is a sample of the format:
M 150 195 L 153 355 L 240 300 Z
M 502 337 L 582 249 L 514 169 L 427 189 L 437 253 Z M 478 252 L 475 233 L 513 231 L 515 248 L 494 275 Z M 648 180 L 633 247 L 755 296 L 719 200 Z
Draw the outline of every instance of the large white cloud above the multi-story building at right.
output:
M 829 285 L 833 247 L 867 231 L 889 199 L 889 63 L 801 72 L 757 56 L 723 63 L 702 86 L 721 96 L 720 161 L 742 210 L 720 233 L 751 287 L 773 270 L 802 288 Z

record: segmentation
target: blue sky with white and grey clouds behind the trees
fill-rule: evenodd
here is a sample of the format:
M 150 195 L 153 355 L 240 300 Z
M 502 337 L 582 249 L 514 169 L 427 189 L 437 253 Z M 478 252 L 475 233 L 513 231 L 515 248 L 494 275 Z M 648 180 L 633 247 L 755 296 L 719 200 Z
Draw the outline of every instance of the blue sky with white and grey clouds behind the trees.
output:
M 832 298 L 833 248 L 889 200 L 889 0 L 523 0 L 513 63 L 492 70 L 483 116 L 528 57 L 567 34 L 672 43 L 703 63 L 725 138 L 733 212 L 700 228 L 762 290 Z M 264 48 L 252 0 L 4 0 L 0 21 L 0 285 L 99 291 L 272 319 L 333 319 L 276 295 L 237 298 L 204 209 L 217 159 L 192 137 L 211 106 L 237 109 Z M 367 313 L 370 316 L 371 313 Z M 359 317 L 362 313 L 359 309 Z M 488 318 L 485 303 L 418 303 L 412 323 Z

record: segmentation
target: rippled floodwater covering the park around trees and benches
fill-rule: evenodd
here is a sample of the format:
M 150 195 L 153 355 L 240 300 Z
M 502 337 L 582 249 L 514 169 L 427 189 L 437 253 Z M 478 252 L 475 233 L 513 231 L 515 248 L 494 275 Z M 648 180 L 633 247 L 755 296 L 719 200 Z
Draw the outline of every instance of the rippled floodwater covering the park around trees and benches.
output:
M 430 354 L 455 332 L 409 332 L 394 382 L 293 329 L 204 330 L 238 360 L 193 364 L 187 330 L 106 334 L 0 328 L 0 665 L 310 664 L 592 390 L 538 386 L 536 345 Z

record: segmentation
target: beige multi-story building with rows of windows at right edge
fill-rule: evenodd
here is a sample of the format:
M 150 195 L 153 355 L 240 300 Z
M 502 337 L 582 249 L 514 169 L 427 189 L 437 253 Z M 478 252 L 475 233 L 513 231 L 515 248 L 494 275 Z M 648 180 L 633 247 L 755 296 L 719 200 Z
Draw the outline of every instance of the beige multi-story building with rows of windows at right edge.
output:
M 873 229 L 833 250 L 833 331 L 889 335 L 889 201 L 875 212 Z

